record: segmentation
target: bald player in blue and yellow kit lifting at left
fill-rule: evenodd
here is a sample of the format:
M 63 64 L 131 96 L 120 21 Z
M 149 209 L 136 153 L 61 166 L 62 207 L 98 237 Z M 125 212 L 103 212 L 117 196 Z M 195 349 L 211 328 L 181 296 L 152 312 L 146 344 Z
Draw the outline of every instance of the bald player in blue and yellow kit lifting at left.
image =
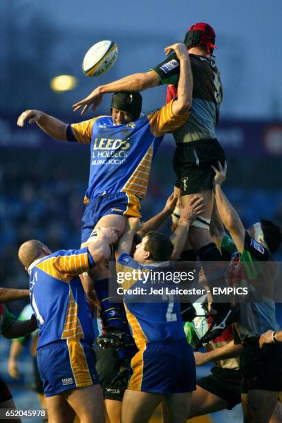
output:
M 98 231 L 81 250 L 50 252 L 37 240 L 23 243 L 19 260 L 30 275 L 30 302 L 39 327 L 37 363 L 50 422 L 69 422 L 73 411 L 85 423 L 104 422 L 95 370 L 91 312 L 79 274 L 108 260 L 113 228 Z

